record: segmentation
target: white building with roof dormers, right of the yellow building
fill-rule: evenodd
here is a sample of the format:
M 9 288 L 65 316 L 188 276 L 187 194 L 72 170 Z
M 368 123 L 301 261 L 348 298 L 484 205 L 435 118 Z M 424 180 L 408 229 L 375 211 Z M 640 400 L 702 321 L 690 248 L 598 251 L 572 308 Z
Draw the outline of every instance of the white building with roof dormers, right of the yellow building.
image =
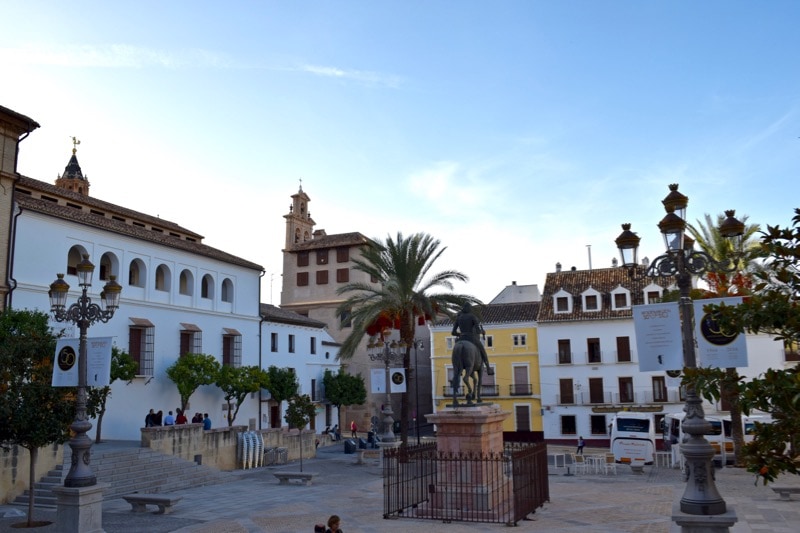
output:
M 549 442 L 608 443 L 608 424 L 622 410 L 647 411 L 660 419 L 681 412 L 680 377 L 640 372 L 632 306 L 655 303 L 673 280 L 655 283 L 625 268 L 561 271 L 547 274 L 538 316 L 544 435 Z M 680 331 L 675 332 L 680 335 Z M 748 335 L 749 366 L 755 377 L 767 368 L 783 368 L 780 343 L 766 335 Z M 723 405 L 705 405 L 717 413 Z

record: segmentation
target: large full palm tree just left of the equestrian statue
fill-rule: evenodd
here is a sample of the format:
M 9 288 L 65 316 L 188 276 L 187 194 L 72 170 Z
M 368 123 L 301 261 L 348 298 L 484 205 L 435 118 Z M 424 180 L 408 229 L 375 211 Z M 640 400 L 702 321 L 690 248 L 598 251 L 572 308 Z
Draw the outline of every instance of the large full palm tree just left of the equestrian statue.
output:
M 417 317 L 433 319 L 442 313 L 452 316 L 465 302 L 481 303 L 472 296 L 452 292 L 454 281 L 469 279 L 465 274 L 457 270 L 431 273 L 446 249 L 426 233 L 404 238 L 399 232 L 396 239 L 387 236 L 386 242 L 375 240 L 362 249 L 361 258 L 353 260 L 353 268 L 377 283 L 348 283 L 337 291 L 350 295 L 339 306 L 339 313 L 349 313 L 352 324 L 350 335 L 339 349 L 340 359 L 352 358 L 367 331 L 388 319 L 395 327 L 399 325 L 401 346 L 405 347 L 403 367 L 409 369 Z M 416 379 L 416 373 L 411 379 Z M 408 442 L 408 425 L 409 403 L 404 394 L 400 416 L 404 445 Z

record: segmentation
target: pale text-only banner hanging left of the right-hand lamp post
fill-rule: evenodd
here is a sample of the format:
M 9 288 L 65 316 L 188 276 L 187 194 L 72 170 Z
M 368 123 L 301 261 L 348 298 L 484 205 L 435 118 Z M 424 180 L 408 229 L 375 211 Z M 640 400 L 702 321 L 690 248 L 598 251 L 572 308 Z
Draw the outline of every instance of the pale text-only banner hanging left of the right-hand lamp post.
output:
M 640 372 L 683 368 L 678 302 L 634 305 L 633 328 Z

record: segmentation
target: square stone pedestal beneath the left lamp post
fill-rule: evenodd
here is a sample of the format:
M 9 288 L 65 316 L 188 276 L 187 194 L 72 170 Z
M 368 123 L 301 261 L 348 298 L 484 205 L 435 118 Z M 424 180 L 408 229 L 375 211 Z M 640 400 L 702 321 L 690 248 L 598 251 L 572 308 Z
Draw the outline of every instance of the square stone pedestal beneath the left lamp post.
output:
M 104 533 L 103 491 L 108 483 L 91 487 L 57 487 L 56 531 L 59 533 Z

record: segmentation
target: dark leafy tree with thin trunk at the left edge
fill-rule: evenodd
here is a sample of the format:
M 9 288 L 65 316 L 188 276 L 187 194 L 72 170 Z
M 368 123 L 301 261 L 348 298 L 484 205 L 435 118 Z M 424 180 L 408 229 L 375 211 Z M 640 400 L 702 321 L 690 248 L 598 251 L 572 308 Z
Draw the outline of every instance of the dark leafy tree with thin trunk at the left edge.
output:
M 33 527 L 33 484 L 39 448 L 69 438 L 75 389 L 53 387 L 56 338 L 46 314 L 6 309 L 0 313 L 0 446 L 30 453 L 27 527 Z

